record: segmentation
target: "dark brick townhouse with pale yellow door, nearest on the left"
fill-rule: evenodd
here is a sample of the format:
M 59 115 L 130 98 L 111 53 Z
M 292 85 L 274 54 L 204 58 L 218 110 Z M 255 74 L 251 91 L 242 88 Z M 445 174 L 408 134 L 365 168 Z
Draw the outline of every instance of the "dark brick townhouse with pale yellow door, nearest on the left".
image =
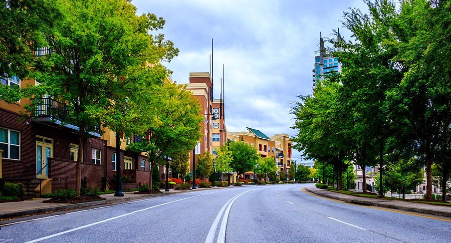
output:
M 17 77 L 1 79 L 3 85 L 26 87 L 34 80 Z M 78 127 L 64 124 L 65 107 L 51 97 L 42 102 L 36 116 L 24 116 L 30 99 L 8 104 L 0 100 L 0 149 L 2 177 L 22 182 L 27 195 L 37 196 L 60 188 L 75 188 Z M 99 128 L 100 129 L 100 128 Z M 91 187 L 100 187 L 106 174 L 106 144 L 100 130 L 90 132 L 84 142 L 82 178 Z

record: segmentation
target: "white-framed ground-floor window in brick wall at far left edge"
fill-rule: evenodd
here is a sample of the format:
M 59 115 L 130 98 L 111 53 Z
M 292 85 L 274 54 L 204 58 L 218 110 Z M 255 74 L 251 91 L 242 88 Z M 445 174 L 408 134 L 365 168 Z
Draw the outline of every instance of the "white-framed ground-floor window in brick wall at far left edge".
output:
M 0 128 L 0 149 L 3 150 L 2 158 L 20 159 L 20 140 L 20 132 Z

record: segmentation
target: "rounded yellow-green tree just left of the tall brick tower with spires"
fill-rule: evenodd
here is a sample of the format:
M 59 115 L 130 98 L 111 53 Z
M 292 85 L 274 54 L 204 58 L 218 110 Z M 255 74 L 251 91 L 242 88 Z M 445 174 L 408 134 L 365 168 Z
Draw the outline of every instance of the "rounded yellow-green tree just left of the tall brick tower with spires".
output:
M 186 90 L 186 86 L 166 82 L 152 89 L 152 93 L 142 97 L 148 125 L 140 142 L 127 146 L 127 150 L 146 153 L 150 163 L 149 183 L 152 183 L 155 164 L 164 164 L 169 157 L 190 151 L 199 140 L 199 102 Z M 150 185 L 152 187 L 152 185 Z

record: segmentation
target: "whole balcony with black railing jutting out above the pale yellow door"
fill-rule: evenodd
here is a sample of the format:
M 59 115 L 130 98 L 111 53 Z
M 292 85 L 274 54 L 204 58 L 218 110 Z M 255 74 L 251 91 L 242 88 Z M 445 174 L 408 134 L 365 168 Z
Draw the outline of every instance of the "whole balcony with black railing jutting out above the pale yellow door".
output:
M 34 122 L 57 124 L 71 128 L 75 131 L 80 130 L 78 126 L 72 125 L 68 118 L 68 108 L 65 103 L 47 98 L 32 98 L 32 104 L 36 107 L 33 112 Z M 89 132 L 94 137 L 101 137 L 100 125 L 94 128 L 94 131 Z

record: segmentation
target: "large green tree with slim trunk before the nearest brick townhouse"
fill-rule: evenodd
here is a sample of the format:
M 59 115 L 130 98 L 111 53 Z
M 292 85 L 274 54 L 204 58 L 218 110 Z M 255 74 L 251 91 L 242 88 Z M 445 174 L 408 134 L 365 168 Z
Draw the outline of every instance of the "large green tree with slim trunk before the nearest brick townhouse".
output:
M 45 36 L 51 54 L 39 57 L 36 71 L 30 74 L 40 85 L 21 90 L 21 95 L 48 95 L 66 105 L 62 122 L 78 127 L 76 189 L 80 191 L 83 145 L 89 132 L 100 124 L 114 129 L 117 123 L 109 124 L 111 117 L 122 115 L 117 104 L 138 93 L 137 85 L 148 87 L 155 80 L 161 83 L 168 71 L 159 62 L 170 61 L 178 50 L 172 42 L 164 41 L 162 34 L 150 34 L 163 28 L 163 19 L 153 14 L 137 16 L 135 6 L 128 1 L 52 4 L 61 18 L 52 22 Z M 153 66 L 144 65 L 147 63 Z M 37 105 L 39 101 L 29 106 L 29 111 L 33 113 Z

